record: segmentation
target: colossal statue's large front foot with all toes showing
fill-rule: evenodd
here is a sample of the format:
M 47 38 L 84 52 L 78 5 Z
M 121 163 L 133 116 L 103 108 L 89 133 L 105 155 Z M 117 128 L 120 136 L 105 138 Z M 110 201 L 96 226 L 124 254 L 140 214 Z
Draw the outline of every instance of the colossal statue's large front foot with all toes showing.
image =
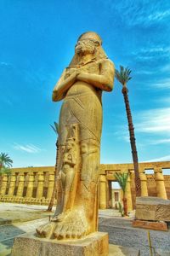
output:
M 56 223 L 54 236 L 57 239 L 77 239 L 89 233 L 88 221 L 82 210 L 69 212 L 61 222 Z

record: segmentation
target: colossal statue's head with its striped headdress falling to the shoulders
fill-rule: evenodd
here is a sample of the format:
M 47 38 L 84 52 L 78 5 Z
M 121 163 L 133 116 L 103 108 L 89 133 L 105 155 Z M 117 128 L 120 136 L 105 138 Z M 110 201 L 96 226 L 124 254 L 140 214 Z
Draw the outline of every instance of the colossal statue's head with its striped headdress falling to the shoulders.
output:
M 91 55 L 92 60 L 107 58 L 102 48 L 102 40 L 96 32 L 85 32 L 78 38 L 70 67 L 77 66 L 82 55 Z

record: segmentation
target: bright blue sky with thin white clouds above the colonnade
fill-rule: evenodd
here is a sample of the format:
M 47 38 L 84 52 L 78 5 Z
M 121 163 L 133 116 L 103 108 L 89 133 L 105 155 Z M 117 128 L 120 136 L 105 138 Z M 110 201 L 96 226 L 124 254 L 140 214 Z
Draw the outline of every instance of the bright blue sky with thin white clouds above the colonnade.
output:
M 61 102 L 54 84 L 82 32 L 98 32 L 128 84 L 139 161 L 170 160 L 169 0 L 1 0 L 0 152 L 14 166 L 52 166 Z M 132 162 L 121 85 L 103 94 L 101 163 Z

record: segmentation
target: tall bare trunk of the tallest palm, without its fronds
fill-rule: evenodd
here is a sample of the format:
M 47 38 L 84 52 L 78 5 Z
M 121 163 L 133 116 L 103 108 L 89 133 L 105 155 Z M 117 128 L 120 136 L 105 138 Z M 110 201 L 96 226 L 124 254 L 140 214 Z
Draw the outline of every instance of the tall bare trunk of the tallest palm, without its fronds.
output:
M 130 110 L 130 104 L 128 101 L 127 87 L 123 86 L 122 94 L 124 97 L 125 107 L 126 107 L 126 111 L 127 111 L 128 131 L 129 131 L 130 144 L 131 144 L 132 154 L 133 154 L 136 196 L 140 196 L 141 195 L 141 181 L 139 178 L 139 161 L 138 161 L 138 153 L 137 153 L 135 137 L 134 137 L 133 119 L 132 119 L 132 114 L 131 114 L 131 110 Z

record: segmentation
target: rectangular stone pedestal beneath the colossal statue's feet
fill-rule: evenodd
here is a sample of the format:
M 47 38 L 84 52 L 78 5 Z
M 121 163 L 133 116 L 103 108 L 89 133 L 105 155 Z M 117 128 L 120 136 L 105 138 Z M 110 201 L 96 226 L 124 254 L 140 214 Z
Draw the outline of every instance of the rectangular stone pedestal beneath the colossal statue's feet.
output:
M 107 256 L 108 234 L 94 232 L 81 239 L 57 240 L 30 233 L 14 238 L 11 256 Z

